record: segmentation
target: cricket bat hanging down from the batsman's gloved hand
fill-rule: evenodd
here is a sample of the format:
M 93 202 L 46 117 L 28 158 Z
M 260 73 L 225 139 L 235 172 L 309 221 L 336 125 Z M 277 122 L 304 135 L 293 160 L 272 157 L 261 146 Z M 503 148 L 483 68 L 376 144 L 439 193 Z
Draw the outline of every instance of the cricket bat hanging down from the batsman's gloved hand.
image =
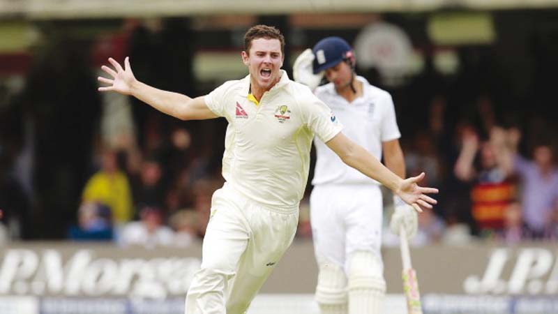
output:
M 418 281 L 416 281 L 416 272 L 411 264 L 411 253 L 409 252 L 409 242 L 405 227 L 401 226 L 399 230 L 399 241 L 401 248 L 401 261 L 403 265 L 402 279 L 403 291 L 407 300 L 407 314 L 422 314 L 421 294 L 418 292 Z

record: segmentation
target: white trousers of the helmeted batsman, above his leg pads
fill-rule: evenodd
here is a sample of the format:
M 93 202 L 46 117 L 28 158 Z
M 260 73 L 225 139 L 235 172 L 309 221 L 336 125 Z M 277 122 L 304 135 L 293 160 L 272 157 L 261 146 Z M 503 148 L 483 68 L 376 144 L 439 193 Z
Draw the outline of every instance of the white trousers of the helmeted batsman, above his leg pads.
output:
M 347 271 L 356 251 L 380 255 L 382 191 L 369 185 L 319 185 L 310 195 L 310 223 L 318 264 L 333 262 Z

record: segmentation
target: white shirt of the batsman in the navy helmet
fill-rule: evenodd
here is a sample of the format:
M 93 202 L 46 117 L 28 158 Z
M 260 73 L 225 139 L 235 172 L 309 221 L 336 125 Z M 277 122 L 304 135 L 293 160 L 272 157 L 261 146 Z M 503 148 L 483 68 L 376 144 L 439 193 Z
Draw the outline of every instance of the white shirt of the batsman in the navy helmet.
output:
M 401 137 L 391 95 L 370 85 L 364 77 L 357 76 L 363 83 L 363 95 L 348 103 L 335 92 L 329 83 L 318 87 L 315 95 L 326 103 L 335 116 L 342 121 L 343 133 L 360 144 L 373 156 L 382 160 L 382 142 Z M 379 184 L 358 170 L 345 165 L 324 142 L 315 140 L 317 160 L 312 184 Z

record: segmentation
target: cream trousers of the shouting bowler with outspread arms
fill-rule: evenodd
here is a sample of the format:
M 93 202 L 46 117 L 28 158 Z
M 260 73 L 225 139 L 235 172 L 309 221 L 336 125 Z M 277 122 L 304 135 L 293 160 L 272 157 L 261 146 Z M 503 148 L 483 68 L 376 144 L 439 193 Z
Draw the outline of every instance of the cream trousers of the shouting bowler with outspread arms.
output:
M 246 313 L 292 243 L 299 207 L 270 209 L 225 183 L 213 193 L 210 217 L 185 313 Z

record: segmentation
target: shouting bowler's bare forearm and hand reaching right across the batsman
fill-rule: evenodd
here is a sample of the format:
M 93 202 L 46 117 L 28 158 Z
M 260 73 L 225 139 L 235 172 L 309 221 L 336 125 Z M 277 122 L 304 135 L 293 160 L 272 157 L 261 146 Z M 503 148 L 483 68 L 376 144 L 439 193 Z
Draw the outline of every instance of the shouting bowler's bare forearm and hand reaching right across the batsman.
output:
M 349 140 L 343 133 L 335 135 L 326 142 L 326 145 L 335 151 L 335 154 L 338 154 L 344 163 L 384 184 L 417 211 L 422 211 L 423 208 L 430 209 L 432 204 L 436 204 L 436 200 L 425 194 L 438 193 L 438 190 L 436 188 L 424 188 L 417 184 L 418 181 L 423 179 L 424 173 L 417 177 L 401 179 L 363 147 Z

